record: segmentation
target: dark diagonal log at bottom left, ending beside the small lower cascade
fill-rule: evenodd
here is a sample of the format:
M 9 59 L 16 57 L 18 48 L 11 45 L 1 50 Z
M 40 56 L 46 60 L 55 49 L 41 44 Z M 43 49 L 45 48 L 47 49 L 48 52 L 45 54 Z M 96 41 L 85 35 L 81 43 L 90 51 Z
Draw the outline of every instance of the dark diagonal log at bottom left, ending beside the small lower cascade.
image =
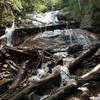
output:
M 23 89 L 21 92 L 17 93 L 14 97 L 10 98 L 9 100 L 23 99 L 25 97 L 25 95 L 31 93 L 32 91 L 43 86 L 44 84 L 51 82 L 52 80 L 59 78 L 59 76 L 60 76 L 60 73 L 58 72 L 58 73 L 54 73 L 54 74 L 50 75 L 49 77 L 47 77 L 43 80 L 34 82 L 30 86 Z

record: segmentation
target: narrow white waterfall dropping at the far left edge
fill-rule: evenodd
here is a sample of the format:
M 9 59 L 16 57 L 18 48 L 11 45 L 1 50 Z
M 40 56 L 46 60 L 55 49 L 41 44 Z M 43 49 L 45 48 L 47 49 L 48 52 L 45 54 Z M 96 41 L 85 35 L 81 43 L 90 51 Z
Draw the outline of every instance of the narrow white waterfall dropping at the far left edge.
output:
M 9 47 L 13 46 L 13 44 L 12 44 L 12 33 L 14 32 L 14 30 L 15 30 L 15 20 L 13 20 L 11 27 L 6 27 L 5 34 L 0 37 L 0 40 L 4 39 L 5 40 L 4 42 L 6 43 L 6 44 L 5 43 L 2 44 L 2 42 L 1 42 L 1 47 L 4 46 L 4 45 L 7 45 Z

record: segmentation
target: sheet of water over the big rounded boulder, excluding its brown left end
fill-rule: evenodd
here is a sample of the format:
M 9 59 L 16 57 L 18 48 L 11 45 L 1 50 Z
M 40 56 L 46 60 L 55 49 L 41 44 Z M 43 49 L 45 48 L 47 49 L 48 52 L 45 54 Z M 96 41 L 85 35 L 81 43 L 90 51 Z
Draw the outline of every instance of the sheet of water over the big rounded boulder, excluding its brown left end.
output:
M 93 42 L 97 41 L 97 38 L 93 34 L 81 29 L 46 31 L 41 35 L 38 34 L 38 37 L 42 38 L 44 42 L 46 41 L 44 44 L 47 46 L 50 46 L 51 44 L 58 45 L 60 43 L 66 45 L 81 44 L 84 49 L 90 48 Z M 51 43 L 51 41 L 53 41 L 53 43 Z

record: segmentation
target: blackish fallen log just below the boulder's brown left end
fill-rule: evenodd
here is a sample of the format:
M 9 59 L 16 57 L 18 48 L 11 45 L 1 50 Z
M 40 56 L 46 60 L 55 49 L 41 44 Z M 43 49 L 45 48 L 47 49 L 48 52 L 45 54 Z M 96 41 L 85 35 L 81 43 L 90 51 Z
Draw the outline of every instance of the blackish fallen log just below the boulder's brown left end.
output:
M 32 59 L 34 62 L 38 62 L 39 59 L 39 53 L 37 50 L 21 50 L 21 49 L 17 49 L 17 48 L 9 48 L 9 47 L 5 47 L 4 48 L 6 53 L 10 54 L 11 56 L 13 56 L 14 59 L 16 59 L 15 61 L 17 61 L 18 63 L 23 63 L 23 61 L 26 61 L 28 59 Z

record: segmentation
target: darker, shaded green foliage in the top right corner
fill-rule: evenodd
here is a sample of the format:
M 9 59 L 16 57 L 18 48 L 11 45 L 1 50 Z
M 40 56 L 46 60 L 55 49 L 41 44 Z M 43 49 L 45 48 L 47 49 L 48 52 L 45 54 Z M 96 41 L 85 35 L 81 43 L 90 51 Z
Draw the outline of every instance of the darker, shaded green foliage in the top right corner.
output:
M 100 0 L 68 0 L 64 11 L 73 11 L 76 15 L 92 12 L 93 9 L 100 9 Z

